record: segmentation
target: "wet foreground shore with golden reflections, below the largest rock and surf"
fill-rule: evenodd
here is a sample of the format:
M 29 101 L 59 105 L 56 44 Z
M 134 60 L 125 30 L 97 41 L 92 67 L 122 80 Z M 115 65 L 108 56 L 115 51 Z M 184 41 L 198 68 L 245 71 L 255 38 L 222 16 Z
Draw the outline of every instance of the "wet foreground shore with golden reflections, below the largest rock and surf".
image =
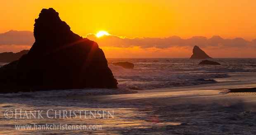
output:
M 84 89 L 2 94 L 0 134 L 234 135 L 255 134 L 256 93 L 228 93 L 256 87 L 255 73 L 229 74 L 220 83 L 119 91 Z M 112 93 L 112 95 L 111 95 Z M 130 93 L 130 94 L 128 94 Z M 72 96 L 76 95 L 76 96 Z M 77 96 L 83 95 L 83 96 Z M 45 119 L 6 119 L 5 110 L 42 110 Z M 47 110 L 109 110 L 114 118 L 47 118 Z M 76 114 L 79 114 L 76 112 Z M 56 114 L 55 114 L 56 115 Z M 73 114 L 72 114 L 73 115 Z M 50 117 L 54 114 L 50 114 Z M 14 125 L 100 125 L 100 130 L 17 130 Z

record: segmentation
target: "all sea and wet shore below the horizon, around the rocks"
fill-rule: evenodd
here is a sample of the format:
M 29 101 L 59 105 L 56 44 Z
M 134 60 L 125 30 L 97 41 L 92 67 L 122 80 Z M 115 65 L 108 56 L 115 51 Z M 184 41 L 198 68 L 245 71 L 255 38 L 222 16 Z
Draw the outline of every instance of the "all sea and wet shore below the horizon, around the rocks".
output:
M 256 134 L 256 94 L 227 93 L 228 88 L 256 87 L 256 58 L 211 60 L 221 65 L 198 65 L 201 60 L 189 58 L 107 60 L 135 65 L 134 69 L 125 69 L 109 64 L 119 83 L 118 90 L 85 88 L 0 94 L 0 134 Z M 4 64 L 7 63 L 0 63 Z M 25 112 L 38 110 L 43 119 L 26 116 Z M 114 118 L 85 119 L 84 113 L 80 114 L 82 119 L 74 118 L 74 113 L 79 115 L 78 110 L 108 110 Z M 12 111 L 9 117 L 8 111 Z M 61 115 L 55 118 L 54 111 Z M 65 113 L 67 117 L 62 115 Z M 100 125 L 102 129 L 16 128 L 45 124 Z

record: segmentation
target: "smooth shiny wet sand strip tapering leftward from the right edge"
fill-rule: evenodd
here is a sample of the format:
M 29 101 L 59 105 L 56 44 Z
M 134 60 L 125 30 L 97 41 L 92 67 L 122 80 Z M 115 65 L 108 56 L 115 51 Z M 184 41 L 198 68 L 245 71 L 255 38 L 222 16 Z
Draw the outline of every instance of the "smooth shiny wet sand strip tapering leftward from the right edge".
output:
M 244 78 L 241 81 L 220 82 L 214 84 L 201 84 L 196 86 L 183 86 L 174 88 L 160 88 L 152 90 L 140 90 L 138 93 L 121 95 L 92 95 L 66 97 L 67 99 L 97 100 L 97 101 L 118 101 L 118 102 L 152 102 L 164 103 L 166 105 L 183 103 L 209 103 L 209 102 L 247 102 L 249 106 L 256 103 L 255 93 L 228 93 L 229 89 L 256 87 L 256 81 L 248 80 L 256 74 L 230 74 L 230 78 Z M 223 78 L 225 79 L 225 78 Z M 220 80 L 220 79 L 219 79 Z M 242 88 L 242 89 L 241 89 Z M 256 105 L 256 104 L 255 104 Z

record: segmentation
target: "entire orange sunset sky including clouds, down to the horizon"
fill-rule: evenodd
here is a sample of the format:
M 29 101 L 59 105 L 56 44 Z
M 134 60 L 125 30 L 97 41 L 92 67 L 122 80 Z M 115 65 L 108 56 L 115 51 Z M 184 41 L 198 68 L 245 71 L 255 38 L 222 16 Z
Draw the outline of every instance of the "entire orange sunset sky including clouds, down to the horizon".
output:
M 49 7 L 107 58 L 256 57 L 256 0 L 0 0 L 0 52 L 29 49 Z

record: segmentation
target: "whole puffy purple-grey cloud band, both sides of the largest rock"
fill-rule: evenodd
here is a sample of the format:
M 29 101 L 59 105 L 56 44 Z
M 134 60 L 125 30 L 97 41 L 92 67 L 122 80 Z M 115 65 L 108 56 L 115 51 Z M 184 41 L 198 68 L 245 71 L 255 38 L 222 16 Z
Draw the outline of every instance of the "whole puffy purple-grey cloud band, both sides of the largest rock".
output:
M 104 35 L 100 38 L 95 34 L 88 34 L 86 37 L 97 42 L 100 47 L 139 47 L 141 49 L 158 48 L 166 49 L 175 46 L 179 47 L 194 47 L 200 48 L 230 48 L 230 47 L 253 47 L 256 48 L 256 39 L 252 41 L 244 40 L 243 38 L 223 39 L 220 36 L 213 36 L 209 39 L 203 36 L 194 36 L 188 39 L 182 39 L 178 36 L 171 36 L 167 38 L 154 37 L 119 37 L 116 35 Z M 6 33 L 0 34 L 0 45 L 29 45 L 32 46 L 35 42 L 33 32 L 31 31 L 17 31 L 10 30 Z

